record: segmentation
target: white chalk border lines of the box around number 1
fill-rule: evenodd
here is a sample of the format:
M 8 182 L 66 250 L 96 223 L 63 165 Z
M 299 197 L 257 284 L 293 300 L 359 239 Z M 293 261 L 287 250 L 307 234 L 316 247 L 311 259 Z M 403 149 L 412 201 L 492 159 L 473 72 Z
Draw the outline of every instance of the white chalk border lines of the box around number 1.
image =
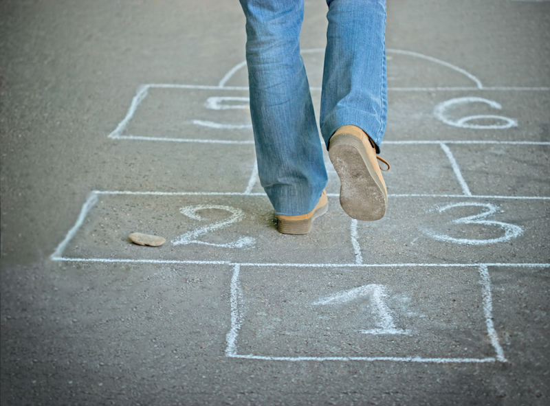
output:
M 318 267 L 320 264 L 302 264 L 306 267 Z M 265 361 L 397 361 L 397 362 L 418 362 L 418 363 L 492 363 L 507 362 L 502 346 L 498 340 L 498 334 L 494 328 L 492 315 L 492 293 L 491 280 L 488 268 L 492 266 L 504 266 L 503 264 L 439 264 L 441 267 L 476 267 L 480 276 L 481 297 L 483 301 L 483 313 L 485 316 L 485 326 L 491 345 L 496 352 L 496 357 L 486 358 L 423 358 L 423 357 L 272 357 L 254 354 L 239 354 L 237 340 L 239 339 L 239 330 L 244 322 L 244 303 L 243 292 L 240 289 L 239 276 L 241 267 L 269 266 L 267 264 L 235 264 L 231 280 L 231 328 L 227 335 L 227 349 L 225 355 L 232 358 L 257 359 Z M 273 267 L 281 267 L 283 264 L 271 264 Z M 285 267 L 292 266 L 284 264 Z M 355 264 L 355 267 L 410 267 L 412 264 Z M 436 267 L 437 264 L 415 264 L 416 267 Z M 512 266 L 507 264 L 505 266 Z M 550 268 L 550 264 L 521 264 L 522 267 L 544 267 Z

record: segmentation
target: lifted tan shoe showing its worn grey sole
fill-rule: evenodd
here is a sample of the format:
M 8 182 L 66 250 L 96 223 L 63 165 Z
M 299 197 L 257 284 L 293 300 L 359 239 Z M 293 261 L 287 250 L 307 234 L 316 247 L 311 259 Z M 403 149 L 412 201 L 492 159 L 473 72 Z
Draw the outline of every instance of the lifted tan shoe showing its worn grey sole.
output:
M 386 214 L 388 192 L 374 143 L 361 128 L 342 126 L 331 137 L 329 157 L 340 177 L 340 205 L 350 217 L 379 220 Z

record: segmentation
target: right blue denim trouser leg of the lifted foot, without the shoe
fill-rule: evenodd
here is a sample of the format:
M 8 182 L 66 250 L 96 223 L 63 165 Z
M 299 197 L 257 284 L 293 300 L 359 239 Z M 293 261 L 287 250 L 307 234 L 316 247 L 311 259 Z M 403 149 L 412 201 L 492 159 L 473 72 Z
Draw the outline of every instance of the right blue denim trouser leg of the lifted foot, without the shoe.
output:
M 327 146 L 347 124 L 367 133 L 380 151 L 388 111 L 386 0 L 327 0 L 327 51 L 320 124 Z

